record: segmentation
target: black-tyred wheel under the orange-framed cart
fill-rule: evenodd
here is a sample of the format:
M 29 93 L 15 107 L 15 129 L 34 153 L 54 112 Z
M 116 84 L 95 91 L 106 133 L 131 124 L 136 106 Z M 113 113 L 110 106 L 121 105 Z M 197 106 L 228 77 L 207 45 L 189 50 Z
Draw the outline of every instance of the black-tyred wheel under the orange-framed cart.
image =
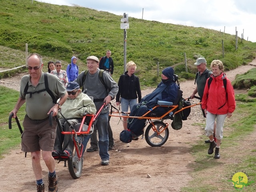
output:
M 166 127 L 166 124 L 162 121 L 155 121 L 153 123 L 158 132 L 161 132 Z M 161 134 L 158 134 L 153 130 L 154 127 L 152 123 L 148 125 L 145 132 L 145 139 L 150 146 L 160 147 L 168 140 L 169 129 L 167 127 Z

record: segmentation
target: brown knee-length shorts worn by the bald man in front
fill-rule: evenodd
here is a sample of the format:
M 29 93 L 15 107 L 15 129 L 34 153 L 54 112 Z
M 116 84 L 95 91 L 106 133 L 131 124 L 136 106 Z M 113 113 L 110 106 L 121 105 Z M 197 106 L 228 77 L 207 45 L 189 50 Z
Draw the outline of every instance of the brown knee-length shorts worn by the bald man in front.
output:
M 32 120 L 25 115 L 23 122 L 24 131 L 21 135 L 21 150 L 24 152 L 53 151 L 56 138 L 56 120 L 49 118 Z

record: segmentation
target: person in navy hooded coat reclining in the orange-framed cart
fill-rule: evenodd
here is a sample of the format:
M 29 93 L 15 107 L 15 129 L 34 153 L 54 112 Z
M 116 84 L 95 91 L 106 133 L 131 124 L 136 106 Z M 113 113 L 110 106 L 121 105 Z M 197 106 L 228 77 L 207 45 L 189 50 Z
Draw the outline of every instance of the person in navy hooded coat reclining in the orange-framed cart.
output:
M 176 103 L 178 97 L 179 86 L 176 84 L 174 78 L 174 69 L 167 67 L 162 71 L 162 81 L 158 84 L 157 88 L 150 94 L 144 96 L 140 104 L 134 105 L 130 112 L 130 116 L 142 116 L 148 110 L 151 110 L 157 105 L 158 100 Z M 162 107 L 156 108 L 158 113 L 166 113 Z M 155 111 L 152 111 L 155 113 Z M 150 113 L 152 114 L 152 113 Z M 140 136 L 143 134 L 146 119 L 128 118 L 128 130 L 123 130 L 120 133 L 120 140 L 122 142 L 131 142 L 132 137 Z

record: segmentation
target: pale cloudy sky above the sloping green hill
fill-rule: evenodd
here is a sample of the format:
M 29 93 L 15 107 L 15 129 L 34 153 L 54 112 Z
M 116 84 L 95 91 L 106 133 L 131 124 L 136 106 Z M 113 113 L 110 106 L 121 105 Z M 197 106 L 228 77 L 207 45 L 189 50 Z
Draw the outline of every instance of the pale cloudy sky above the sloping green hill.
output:
M 33 0 L 32 0 L 33 1 Z M 38 0 L 82 6 L 123 17 L 214 29 L 256 42 L 255 0 Z M 120 21 L 121 22 L 121 21 Z

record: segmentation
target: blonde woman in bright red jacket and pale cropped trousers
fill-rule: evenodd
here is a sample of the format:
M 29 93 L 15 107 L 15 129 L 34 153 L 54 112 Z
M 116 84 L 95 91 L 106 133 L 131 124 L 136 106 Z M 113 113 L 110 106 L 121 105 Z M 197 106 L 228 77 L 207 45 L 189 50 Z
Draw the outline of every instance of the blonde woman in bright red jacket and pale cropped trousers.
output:
M 223 72 L 223 63 L 213 60 L 211 63 L 212 74 L 206 81 L 202 98 L 202 109 L 206 114 L 206 136 L 210 139 L 208 154 L 213 154 L 215 159 L 220 158 L 220 143 L 223 138 L 225 118 L 230 118 L 236 108 L 234 89 L 230 80 Z M 213 139 L 214 122 L 216 120 L 216 143 Z

